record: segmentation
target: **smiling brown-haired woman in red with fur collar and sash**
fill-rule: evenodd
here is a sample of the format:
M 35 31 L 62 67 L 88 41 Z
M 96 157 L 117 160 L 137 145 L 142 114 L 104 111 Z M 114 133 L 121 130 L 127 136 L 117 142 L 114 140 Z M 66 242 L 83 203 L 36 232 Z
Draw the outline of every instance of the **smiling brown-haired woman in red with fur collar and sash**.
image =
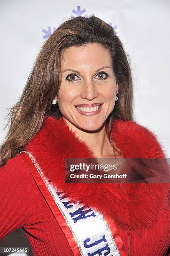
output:
M 167 253 L 168 184 L 65 182 L 69 158 L 165 159 L 156 136 L 132 120 L 131 71 L 111 26 L 94 15 L 61 24 L 10 115 L 0 239 L 23 227 L 34 255 Z

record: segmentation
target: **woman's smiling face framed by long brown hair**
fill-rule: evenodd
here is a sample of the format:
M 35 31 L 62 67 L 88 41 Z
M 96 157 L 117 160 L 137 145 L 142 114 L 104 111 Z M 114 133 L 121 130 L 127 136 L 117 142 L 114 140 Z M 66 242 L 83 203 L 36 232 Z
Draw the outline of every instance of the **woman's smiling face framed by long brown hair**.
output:
M 118 92 L 109 51 L 99 44 L 71 46 L 63 51 L 61 72 L 57 100 L 66 123 L 87 131 L 101 128 Z

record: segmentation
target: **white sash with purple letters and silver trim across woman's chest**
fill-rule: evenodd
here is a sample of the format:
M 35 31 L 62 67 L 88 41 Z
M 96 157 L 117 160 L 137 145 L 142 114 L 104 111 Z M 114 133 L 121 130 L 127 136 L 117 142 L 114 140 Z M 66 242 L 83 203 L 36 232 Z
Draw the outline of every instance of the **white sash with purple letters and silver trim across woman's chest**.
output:
M 43 179 L 55 204 L 69 226 L 81 255 L 120 256 L 112 232 L 101 212 L 93 210 L 91 207 L 87 207 L 84 211 L 84 204 L 82 202 L 70 203 L 69 197 L 67 197 L 65 192 L 58 191 L 56 186 L 54 187 L 48 182 L 47 177 L 43 174 L 33 155 L 28 151 L 21 151 L 20 153 L 22 152 L 25 152 L 30 157 Z

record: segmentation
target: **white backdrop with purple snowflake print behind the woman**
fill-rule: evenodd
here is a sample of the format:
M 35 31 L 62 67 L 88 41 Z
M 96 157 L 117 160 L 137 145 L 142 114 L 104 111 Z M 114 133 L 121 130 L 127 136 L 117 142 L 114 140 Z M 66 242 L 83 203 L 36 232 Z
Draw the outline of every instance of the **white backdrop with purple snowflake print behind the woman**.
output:
M 0 142 L 46 38 L 71 15 L 94 14 L 110 23 L 129 54 L 134 120 L 153 131 L 170 157 L 169 0 L 0 0 Z

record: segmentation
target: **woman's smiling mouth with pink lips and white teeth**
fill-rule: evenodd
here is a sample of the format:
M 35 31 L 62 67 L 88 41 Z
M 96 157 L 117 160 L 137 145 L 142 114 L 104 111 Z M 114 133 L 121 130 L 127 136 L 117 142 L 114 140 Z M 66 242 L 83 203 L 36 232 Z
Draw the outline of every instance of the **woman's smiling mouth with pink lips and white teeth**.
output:
M 79 104 L 76 105 L 76 110 L 82 115 L 95 115 L 98 114 L 101 110 L 102 103 L 94 103 L 94 104 Z

